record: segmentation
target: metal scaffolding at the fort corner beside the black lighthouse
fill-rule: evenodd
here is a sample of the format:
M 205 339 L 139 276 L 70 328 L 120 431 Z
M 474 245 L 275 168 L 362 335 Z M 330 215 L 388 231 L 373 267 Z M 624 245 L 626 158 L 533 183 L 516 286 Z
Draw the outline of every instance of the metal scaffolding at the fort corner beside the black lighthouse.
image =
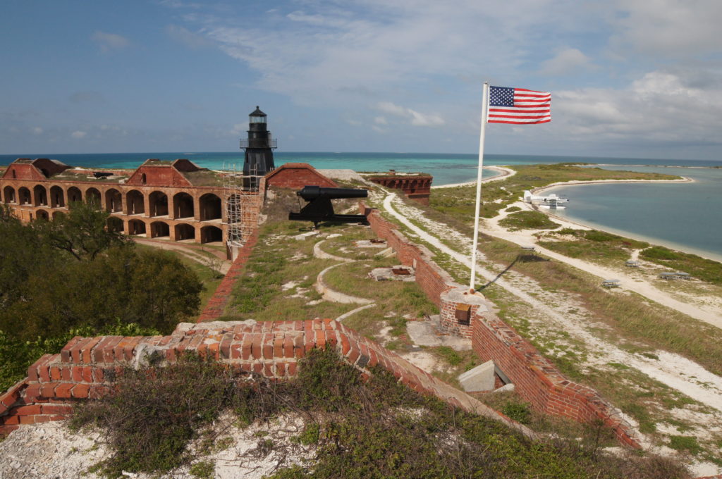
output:
M 248 175 L 235 163 L 223 165 L 223 195 L 226 199 L 228 246 L 241 247 L 248 241 L 258 221 L 258 185 L 261 177 L 256 165 Z

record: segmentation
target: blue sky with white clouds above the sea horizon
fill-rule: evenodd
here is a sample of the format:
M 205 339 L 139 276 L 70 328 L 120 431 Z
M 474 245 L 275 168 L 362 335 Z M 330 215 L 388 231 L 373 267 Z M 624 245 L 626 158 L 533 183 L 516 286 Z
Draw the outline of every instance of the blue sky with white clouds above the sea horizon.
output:
M 482 82 L 552 92 L 499 154 L 722 159 L 719 0 L 6 0 L 0 153 L 475 153 Z

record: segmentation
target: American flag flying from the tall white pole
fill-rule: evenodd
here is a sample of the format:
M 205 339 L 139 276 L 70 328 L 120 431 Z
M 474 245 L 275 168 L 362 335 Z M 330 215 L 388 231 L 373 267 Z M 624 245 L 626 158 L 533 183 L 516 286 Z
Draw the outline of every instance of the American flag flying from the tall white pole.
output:
M 552 120 L 552 94 L 489 87 L 488 118 L 488 123 L 547 123 Z

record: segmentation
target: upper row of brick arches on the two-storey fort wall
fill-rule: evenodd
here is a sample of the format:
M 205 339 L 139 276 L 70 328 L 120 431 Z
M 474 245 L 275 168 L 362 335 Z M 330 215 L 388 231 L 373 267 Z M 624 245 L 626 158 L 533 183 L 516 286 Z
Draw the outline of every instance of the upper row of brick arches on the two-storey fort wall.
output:
M 75 201 L 90 200 L 110 213 L 169 216 L 173 219 L 196 218 L 199 221 L 222 219 L 221 198 L 214 193 L 201 195 L 197 203 L 193 196 L 185 192 L 175 193 L 169 197 L 162 191 L 153 191 L 146 198 L 146 195 L 139 190 L 121 193 L 116 188 L 108 188 L 101 193 L 93 187 L 81 191 L 76 186 L 64 189 L 58 185 L 51 186 L 49 190 L 44 185 L 35 185 L 32 190 L 25 186 L 17 190 L 12 186 L 6 186 L 1 193 L 4 203 L 19 206 L 65 208 Z

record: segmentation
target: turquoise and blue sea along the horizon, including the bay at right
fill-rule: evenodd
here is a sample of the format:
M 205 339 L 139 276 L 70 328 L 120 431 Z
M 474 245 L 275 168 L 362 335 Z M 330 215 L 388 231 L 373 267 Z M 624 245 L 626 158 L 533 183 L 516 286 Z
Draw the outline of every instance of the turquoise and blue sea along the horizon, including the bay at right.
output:
M 0 164 L 8 164 L 19 156 L 49 157 L 91 168 L 135 168 L 148 158 L 188 158 L 212 169 L 243 165 L 243 151 L 0 155 Z M 318 169 L 427 172 L 433 175 L 434 185 L 476 180 L 478 161 L 476 154 L 277 152 L 274 157 L 276 164 L 304 162 Z M 570 219 L 722 260 L 722 161 L 508 154 L 484 157 L 486 165 L 558 162 L 607 164 L 617 170 L 692 177 L 695 183 L 583 185 L 559 188 L 557 193 L 570 198 L 568 208 L 562 212 Z M 677 166 L 685 168 L 674 168 Z M 484 171 L 484 176 L 487 175 L 494 173 Z

